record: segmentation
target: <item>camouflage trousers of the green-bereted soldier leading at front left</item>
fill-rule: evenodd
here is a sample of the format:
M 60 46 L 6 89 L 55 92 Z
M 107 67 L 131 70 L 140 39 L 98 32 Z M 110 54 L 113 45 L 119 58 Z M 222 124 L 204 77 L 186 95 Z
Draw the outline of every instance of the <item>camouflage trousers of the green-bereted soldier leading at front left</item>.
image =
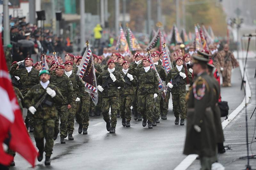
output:
M 52 155 L 55 119 L 43 120 L 35 118 L 34 123 L 34 138 L 36 141 L 36 147 L 39 151 L 44 151 L 46 153 L 45 156 L 50 157 Z

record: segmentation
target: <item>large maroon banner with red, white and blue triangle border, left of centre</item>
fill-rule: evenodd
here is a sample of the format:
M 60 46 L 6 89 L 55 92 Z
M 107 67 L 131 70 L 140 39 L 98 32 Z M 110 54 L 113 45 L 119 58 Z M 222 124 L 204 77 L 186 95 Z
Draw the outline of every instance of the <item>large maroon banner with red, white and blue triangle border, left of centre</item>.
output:
M 90 94 L 92 102 L 96 106 L 98 103 L 97 81 L 95 76 L 92 51 L 89 44 L 86 48 L 86 51 L 84 52 L 76 74 L 79 75 L 79 77 L 81 77 L 81 79 L 84 81 L 85 91 Z

